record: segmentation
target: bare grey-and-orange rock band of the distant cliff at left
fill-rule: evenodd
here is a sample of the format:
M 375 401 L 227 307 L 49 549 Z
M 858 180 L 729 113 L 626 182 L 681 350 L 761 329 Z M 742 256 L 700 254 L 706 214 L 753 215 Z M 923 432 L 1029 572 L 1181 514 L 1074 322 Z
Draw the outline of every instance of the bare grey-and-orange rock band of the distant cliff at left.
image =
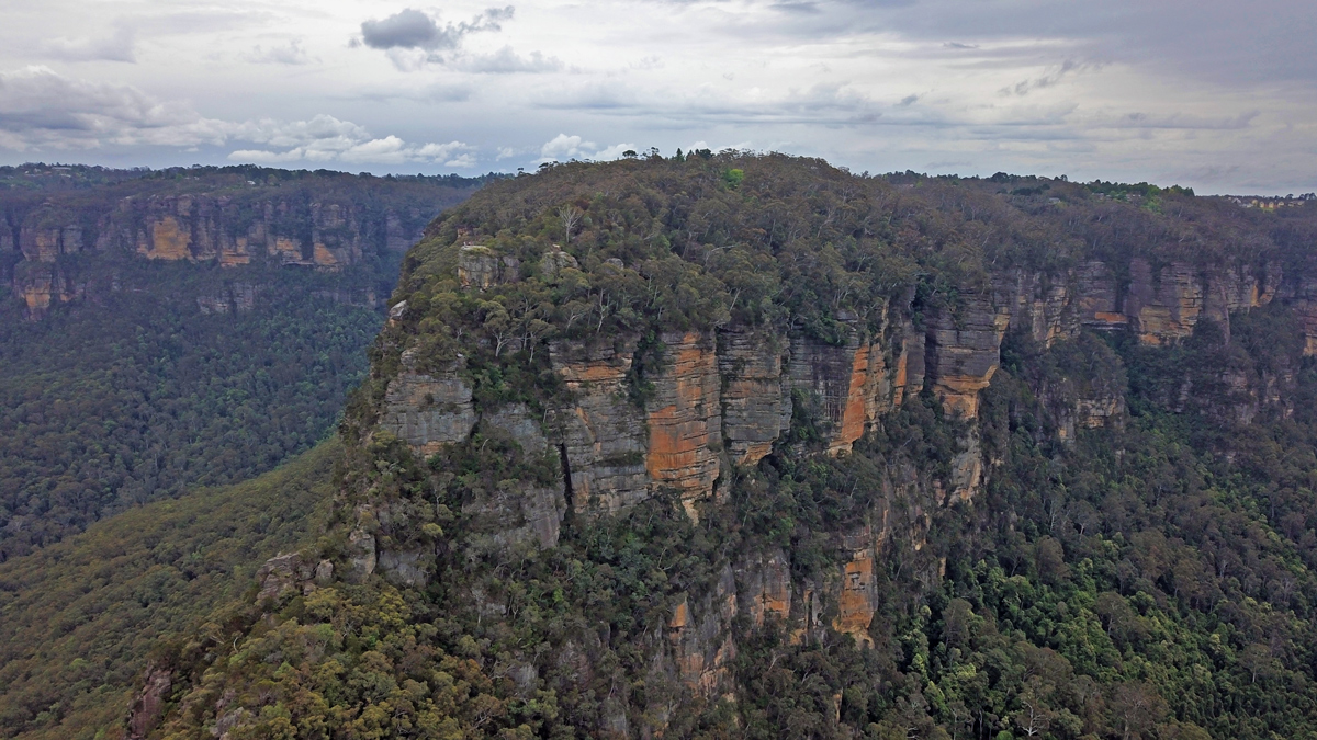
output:
M 161 190 L 169 187 L 162 184 Z M 291 265 L 337 273 L 362 263 L 370 254 L 400 253 L 420 238 L 431 213 L 403 208 L 387 196 L 383 200 L 319 194 L 315 186 L 311 194 L 230 188 L 117 199 L 107 195 L 101 201 L 83 198 L 67 203 L 54 196 L 8 216 L 0 253 L 8 251 L 11 259 L 18 261 L 13 290 L 29 317 L 40 319 L 51 304 L 90 298 L 86 288 L 103 287 L 101 282 L 94 286 L 75 278 L 82 265 L 79 255 L 227 269 Z M 97 291 L 94 294 L 100 295 Z M 209 312 L 230 312 L 234 305 L 242 309 L 241 299 L 228 296 L 198 296 L 198 302 Z

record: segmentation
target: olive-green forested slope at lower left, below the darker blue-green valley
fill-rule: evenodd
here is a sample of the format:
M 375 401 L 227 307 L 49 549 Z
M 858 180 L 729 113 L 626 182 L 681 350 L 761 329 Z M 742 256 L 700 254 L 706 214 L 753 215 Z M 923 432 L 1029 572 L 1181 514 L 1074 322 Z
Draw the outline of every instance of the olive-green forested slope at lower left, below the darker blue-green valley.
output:
M 336 441 L 275 471 L 125 511 L 0 564 L 0 737 L 117 733 L 148 656 L 252 586 L 328 511 Z

